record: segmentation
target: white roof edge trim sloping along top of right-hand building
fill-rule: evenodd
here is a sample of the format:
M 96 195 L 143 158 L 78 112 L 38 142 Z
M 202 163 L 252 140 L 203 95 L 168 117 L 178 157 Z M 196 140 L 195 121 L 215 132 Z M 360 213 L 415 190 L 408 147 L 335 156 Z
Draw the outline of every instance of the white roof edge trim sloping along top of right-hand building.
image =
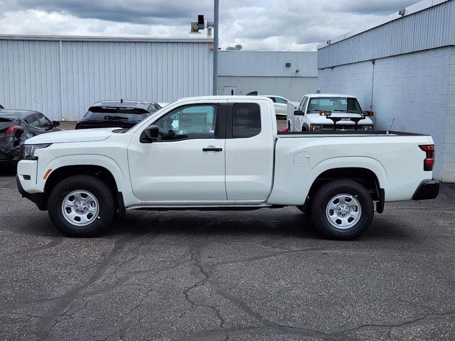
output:
M 325 48 L 325 47 L 327 47 L 329 45 L 333 45 L 334 43 L 337 43 L 339 41 L 348 39 L 348 38 L 350 38 L 350 37 L 352 37 L 354 35 L 357 35 L 357 34 L 360 34 L 362 32 L 365 32 L 365 31 L 367 31 L 369 29 L 376 28 L 378 26 L 390 23 L 391 21 L 394 21 L 394 20 L 397 20 L 397 19 L 400 19 L 400 18 L 404 18 L 404 17 L 406 17 L 408 15 L 423 11 L 423 10 L 425 10 L 427 8 L 434 7 L 436 5 L 439 5 L 439 4 L 441 4 L 443 2 L 447 2 L 447 1 L 452 1 L 452 0 L 422 0 L 420 2 L 417 2 L 417 3 L 414 3 L 414 4 L 410 5 L 408 7 L 405 7 L 404 15 L 400 15 L 399 11 L 394 12 L 394 13 L 386 16 L 385 18 L 383 18 L 380 21 L 373 22 L 371 24 L 363 25 L 363 26 L 361 26 L 358 29 L 352 30 L 350 32 L 347 32 L 347 33 L 344 33 L 342 35 L 339 35 L 339 36 L 337 36 L 337 37 L 335 37 L 333 39 L 330 39 L 330 44 L 327 44 L 327 43 L 318 44 L 317 45 L 317 49 L 318 50 L 323 49 L 323 48 Z

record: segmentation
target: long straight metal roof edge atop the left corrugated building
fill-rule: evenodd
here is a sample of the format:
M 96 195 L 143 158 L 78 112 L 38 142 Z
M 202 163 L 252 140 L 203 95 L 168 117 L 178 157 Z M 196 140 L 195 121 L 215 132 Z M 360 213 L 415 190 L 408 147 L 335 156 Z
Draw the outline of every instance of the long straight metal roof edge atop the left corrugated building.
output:
M 41 41 L 95 41 L 95 42 L 151 42 L 151 43 L 211 43 L 212 38 L 153 38 L 153 37 L 101 37 L 78 35 L 0 34 L 0 40 Z

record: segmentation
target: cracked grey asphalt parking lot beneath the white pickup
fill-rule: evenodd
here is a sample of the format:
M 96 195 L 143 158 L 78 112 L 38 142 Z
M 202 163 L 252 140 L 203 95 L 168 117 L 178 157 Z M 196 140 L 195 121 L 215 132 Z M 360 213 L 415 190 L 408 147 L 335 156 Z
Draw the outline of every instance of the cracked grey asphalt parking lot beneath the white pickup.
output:
M 130 211 L 66 238 L 0 172 L 1 340 L 454 340 L 455 185 L 357 241 L 294 207 Z

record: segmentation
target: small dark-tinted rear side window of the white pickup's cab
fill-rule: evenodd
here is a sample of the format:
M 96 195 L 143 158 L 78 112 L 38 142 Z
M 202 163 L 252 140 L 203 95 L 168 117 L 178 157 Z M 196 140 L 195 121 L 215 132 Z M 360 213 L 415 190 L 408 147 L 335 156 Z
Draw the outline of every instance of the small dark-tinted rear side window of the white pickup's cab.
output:
M 235 103 L 232 108 L 232 137 L 245 139 L 260 133 L 260 108 L 257 103 Z

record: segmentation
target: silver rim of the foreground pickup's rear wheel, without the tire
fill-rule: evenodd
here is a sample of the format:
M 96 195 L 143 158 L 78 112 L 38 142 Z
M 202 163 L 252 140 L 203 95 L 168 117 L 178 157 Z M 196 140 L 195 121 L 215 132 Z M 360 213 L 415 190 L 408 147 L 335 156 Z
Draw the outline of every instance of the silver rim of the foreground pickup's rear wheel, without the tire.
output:
M 337 194 L 328 201 L 325 215 L 334 227 L 351 228 L 360 219 L 362 207 L 356 197 L 350 194 Z

